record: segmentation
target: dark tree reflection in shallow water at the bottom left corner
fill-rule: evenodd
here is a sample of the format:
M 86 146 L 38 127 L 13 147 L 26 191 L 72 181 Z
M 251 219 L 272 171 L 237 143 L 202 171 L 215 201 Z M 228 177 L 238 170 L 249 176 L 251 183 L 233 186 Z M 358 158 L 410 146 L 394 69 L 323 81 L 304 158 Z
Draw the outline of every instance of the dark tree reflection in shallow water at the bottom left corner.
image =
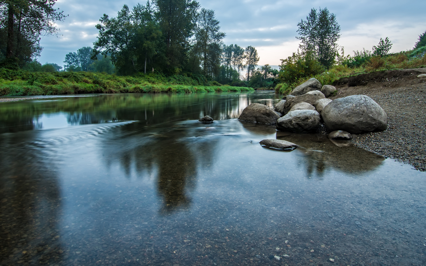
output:
M 17 139 L 19 143 L 1 141 L 1 265 L 54 264 L 63 256 L 56 237 L 61 209 L 58 178 L 41 149 L 20 144 L 33 139 L 26 135 L 29 138 Z

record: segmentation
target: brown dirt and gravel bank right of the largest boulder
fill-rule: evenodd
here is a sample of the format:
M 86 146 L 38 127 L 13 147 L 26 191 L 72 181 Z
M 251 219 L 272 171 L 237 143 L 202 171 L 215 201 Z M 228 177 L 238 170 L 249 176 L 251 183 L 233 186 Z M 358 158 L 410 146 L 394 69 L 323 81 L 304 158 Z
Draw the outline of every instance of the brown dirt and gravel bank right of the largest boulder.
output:
M 388 129 L 355 135 L 353 143 L 426 171 L 426 78 L 419 74 L 426 68 L 345 77 L 333 84 L 338 93 L 331 99 L 364 94 L 375 100 L 388 115 Z

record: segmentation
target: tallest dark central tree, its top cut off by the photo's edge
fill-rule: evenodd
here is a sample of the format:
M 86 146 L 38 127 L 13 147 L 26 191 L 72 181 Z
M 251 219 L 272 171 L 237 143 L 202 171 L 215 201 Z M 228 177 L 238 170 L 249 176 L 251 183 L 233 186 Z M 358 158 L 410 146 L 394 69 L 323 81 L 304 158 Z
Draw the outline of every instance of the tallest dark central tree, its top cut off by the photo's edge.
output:
M 166 46 L 167 69 L 178 73 L 188 64 L 189 39 L 196 26 L 199 3 L 195 0 L 154 0 L 153 3 Z

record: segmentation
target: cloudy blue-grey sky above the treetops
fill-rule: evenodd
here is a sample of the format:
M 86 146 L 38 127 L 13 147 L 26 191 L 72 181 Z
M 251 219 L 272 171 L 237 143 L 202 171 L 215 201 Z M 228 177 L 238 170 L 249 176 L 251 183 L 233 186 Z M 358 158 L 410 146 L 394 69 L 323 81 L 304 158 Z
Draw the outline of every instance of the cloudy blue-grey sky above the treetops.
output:
M 114 17 L 124 4 L 134 6 L 146 0 L 58 0 L 65 14 L 58 23 L 60 36 L 43 37 L 40 63 L 63 65 L 65 54 L 96 40 L 95 25 L 105 13 Z M 377 45 L 389 37 L 391 51 L 412 49 L 418 35 L 426 30 L 426 1 L 412 0 L 199 0 L 201 7 L 213 9 L 226 32 L 224 42 L 255 46 L 259 65 L 276 66 L 280 59 L 296 51 L 297 23 L 311 8 L 327 8 L 336 14 L 341 28 L 339 45 L 346 54 Z

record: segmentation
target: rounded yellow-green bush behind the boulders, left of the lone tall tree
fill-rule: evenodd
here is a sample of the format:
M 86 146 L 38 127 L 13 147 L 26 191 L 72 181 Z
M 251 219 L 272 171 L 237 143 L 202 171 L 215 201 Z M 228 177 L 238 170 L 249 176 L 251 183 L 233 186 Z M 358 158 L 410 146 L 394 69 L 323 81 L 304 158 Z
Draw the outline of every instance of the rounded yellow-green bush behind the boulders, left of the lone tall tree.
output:
M 311 77 L 324 71 L 321 63 L 314 59 L 312 52 L 307 52 L 306 54 L 293 53 L 291 57 L 281 59 L 279 69 L 279 80 L 287 84 L 292 84 L 296 80 Z

